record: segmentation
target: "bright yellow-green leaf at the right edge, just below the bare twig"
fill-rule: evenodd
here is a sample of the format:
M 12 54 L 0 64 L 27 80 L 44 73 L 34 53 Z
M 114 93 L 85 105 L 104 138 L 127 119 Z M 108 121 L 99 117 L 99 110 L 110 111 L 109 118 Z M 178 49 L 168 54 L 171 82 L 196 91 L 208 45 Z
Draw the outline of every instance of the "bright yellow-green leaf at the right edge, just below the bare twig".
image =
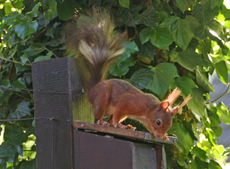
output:
M 226 123 L 230 124 L 230 114 L 226 106 L 223 105 L 223 103 L 219 103 L 217 106 L 217 114 L 220 117 L 220 119 Z

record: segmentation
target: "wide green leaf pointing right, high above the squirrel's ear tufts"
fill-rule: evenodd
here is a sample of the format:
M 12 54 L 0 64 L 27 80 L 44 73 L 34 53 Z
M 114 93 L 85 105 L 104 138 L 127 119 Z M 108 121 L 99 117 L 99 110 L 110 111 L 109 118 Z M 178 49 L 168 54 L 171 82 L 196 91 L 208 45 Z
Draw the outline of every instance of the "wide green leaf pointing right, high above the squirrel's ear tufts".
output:
M 190 71 L 195 70 L 197 66 L 207 66 L 204 59 L 194 51 L 172 51 L 170 57 L 173 62 L 178 62 L 181 66 Z

